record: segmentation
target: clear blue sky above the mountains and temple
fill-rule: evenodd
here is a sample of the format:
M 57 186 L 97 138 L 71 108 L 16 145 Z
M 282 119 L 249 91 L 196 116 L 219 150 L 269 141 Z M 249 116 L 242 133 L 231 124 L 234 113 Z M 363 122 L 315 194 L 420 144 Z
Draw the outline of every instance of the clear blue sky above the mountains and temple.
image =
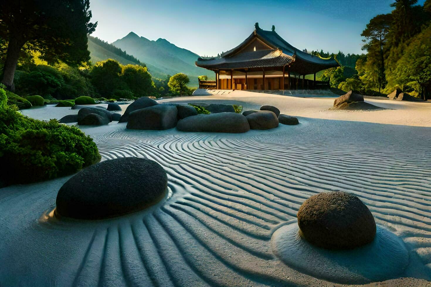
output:
M 214 56 L 241 43 L 259 22 L 298 49 L 361 53 L 369 19 L 391 11 L 393 0 L 91 0 L 94 37 L 109 43 L 133 31 L 165 38 L 199 55 Z M 425 0 L 419 0 L 423 4 Z

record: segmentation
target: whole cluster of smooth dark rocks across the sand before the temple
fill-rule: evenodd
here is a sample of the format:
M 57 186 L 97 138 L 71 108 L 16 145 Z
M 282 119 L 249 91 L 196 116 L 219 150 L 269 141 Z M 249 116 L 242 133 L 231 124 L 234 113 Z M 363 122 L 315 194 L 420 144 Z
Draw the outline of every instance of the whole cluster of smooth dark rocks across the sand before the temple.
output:
M 194 106 L 210 111 L 210 114 L 198 114 Z M 251 130 L 268 130 L 278 127 L 279 123 L 296 125 L 296 117 L 280 114 L 278 108 L 263 105 L 259 111 L 235 113 L 232 105 L 207 104 L 194 102 L 190 104 L 158 103 L 153 99 L 142 97 L 128 105 L 123 115 L 117 103 L 108 103 L 108 108 L 76 105 L 77 115 L 63 117 L 61 123 L 79 125 L 105 125 L 115 120 L 127 122 L 132 130 L 168 130 L 177 127 L 187 132 L 245 133 Z

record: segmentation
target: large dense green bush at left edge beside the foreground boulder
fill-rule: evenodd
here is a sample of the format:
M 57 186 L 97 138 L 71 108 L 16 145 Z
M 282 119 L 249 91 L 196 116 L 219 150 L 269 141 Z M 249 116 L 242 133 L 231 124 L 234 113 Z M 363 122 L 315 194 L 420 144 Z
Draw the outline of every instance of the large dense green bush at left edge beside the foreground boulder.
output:
M 74 126 L 0 108 L 0 182 L 30 183 L 75 173 L 100 161 L 96 144 Z

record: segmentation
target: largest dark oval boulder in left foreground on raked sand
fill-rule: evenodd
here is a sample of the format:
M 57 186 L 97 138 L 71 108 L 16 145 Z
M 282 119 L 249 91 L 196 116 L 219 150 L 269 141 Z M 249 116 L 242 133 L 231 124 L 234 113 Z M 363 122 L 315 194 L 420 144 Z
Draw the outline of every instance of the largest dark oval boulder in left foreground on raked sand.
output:
M 142 210 L 166 194 L 165 170 L 153 160 L 105 160 L 72 176 L 58 191 L 57 216 L 104 219 Z

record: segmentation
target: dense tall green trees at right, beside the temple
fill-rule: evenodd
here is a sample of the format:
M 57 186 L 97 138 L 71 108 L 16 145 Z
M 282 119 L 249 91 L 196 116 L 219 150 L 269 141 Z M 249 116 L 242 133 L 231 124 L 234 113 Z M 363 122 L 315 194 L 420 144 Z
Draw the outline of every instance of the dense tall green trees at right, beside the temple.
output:
M 361 34 L 362 55 L 312 51 L 324 58 L 333 55 L 341 65 L 324 71 L 318 80 L 370 96 L 400 89 L 431 99 L 431 0 L 423 6 L 417 2 L 396 0 L 391 13 L 371 19 Z

